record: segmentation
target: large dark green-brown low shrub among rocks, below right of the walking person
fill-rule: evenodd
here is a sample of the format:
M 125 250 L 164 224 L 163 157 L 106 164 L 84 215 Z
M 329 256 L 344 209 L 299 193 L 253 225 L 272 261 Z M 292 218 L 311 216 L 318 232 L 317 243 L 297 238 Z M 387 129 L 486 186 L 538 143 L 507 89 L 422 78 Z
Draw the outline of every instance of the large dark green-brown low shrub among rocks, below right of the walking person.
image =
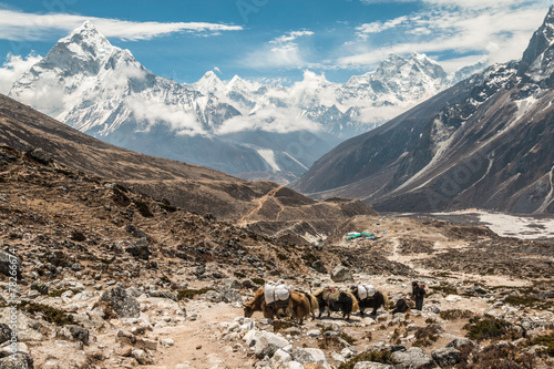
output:
M 504 319 L 491 316 L 473 317 L 463 329 L 468 330 L 468 338 L 481 342 L 484 340 L 516 340 L 522 335 L 514 329 L 513 325 Z

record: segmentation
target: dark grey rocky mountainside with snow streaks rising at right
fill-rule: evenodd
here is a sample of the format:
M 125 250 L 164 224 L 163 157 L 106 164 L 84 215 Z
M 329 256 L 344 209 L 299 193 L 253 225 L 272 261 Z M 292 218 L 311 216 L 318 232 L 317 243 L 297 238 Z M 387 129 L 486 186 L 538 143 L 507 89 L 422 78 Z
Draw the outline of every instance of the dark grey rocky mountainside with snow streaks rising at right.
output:
M 378 209 L 554 212 L 554 7 L 517 62 L 496 64 L 346 141 L 295 188 Z

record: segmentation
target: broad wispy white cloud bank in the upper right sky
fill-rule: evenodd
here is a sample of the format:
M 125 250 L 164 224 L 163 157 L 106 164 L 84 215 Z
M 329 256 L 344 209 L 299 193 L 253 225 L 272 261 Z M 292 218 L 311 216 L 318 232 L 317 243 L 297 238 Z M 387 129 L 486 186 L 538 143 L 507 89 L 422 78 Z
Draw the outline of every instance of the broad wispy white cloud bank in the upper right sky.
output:
M 386 22 L 357 28 L 365 41 L 346 44 L 350 50 L 335 63 L 342 68 L 375 66 L 389 53 L 413 51 L 450 59 L 479 55 L 491 63 L 520 59 L 533 32 L 546 14 L 545 1 L 424 0 L 425 10 Z M 517 7 L 515 7 L 517 4 Z M 386 39 L 389 43 L 383 44 Z M 343 51 L 345 53 L 345 51 Z M 450 63 L 454 66 L 455 61 Z

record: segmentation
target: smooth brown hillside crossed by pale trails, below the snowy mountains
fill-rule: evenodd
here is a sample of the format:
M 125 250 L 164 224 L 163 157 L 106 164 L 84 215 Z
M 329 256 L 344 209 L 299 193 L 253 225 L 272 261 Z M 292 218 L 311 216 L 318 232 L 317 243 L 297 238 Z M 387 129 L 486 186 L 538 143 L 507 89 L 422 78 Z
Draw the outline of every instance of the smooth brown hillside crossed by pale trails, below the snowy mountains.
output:
M 207 167 L 120 148 L 1 95 L 0 143 L 23 151 L 40 147 L 59 164 L 266 235 L 325 238 L 349 216 L 375 214 L 358 201 L 316 202 L 275 183 L 247 182 Z

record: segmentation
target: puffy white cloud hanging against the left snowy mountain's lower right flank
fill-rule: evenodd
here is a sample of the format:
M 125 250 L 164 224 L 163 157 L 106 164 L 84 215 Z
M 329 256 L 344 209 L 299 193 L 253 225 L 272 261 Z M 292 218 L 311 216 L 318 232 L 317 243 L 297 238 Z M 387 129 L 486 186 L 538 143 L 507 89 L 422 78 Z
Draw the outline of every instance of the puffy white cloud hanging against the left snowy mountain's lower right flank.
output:
M 127 96 L 125 106 L 133 112 L 136 119 L 144 121 L 144 132 L 148 132 L 156 124 L 167 124 L 177 135 L 206 134 L 194 113 L 179 106 L 166 105 L 161 101 L 137 95 Z

